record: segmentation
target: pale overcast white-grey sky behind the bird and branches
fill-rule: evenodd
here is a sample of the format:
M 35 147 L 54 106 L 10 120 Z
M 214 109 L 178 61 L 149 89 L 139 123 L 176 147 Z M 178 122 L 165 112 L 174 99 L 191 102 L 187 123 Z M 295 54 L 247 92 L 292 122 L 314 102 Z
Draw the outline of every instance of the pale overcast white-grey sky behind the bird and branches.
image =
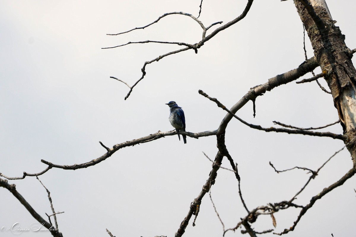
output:
M 99 1 L 98 1 L 99 2 Z M 199 19 L 205 26 L 231 21 L 247 1 L 203 1 Z M 355 1 L 328 0 L 336 25 L 356 47 Z M 177 45 L 131 44 L 101 49 L 129 41 L 200 41 L 201 28 L 192 18 L 168 16 L 144 30 L 166 12 L 183 11 L 198 16 L 200 1 L 1 1 L 0 2 L 0 172 L 22 176 L 46 168 L 41 159 L 73 165 L 93 160 L 106 146 L 172 130 L 165 103 L 183 107 L 187 131 L 218 128 L 225 112 L 198 94 L 201 89 L 231 107 L 250 87 L 297 68 L 304 61 L 303 27 L 293 1 L 255 1 L 244 20 L 216 35 L 195 54 L 188 50 L 146 67 L 147 75 L 125 101 L 129 88 L 141 77 L 145 61 L 179 49 Z M 220 25 L 218 25 L 220 26 Z M 218 27 L 216 26 L 216 27 Z M 215 29 L 213 27 L 210 32 Z M 209 33 L 209 31 L 208 31 Z M 308 57 L 313 55 L 307 38 Z M 316 70 L 316 72 L 320 69 Z M 311 77 L 310 75 L 303 77 Z M 323 82 L 323 80 L 320 80 Z M 323 82 L 326 86 L 326 83 Z M 316 85 L 290 83 L 267 92 L 237 115 L 265 127 L 282 123 L 300 127 L 321 126 L 337 117 L 332 97 Z M 344 145 L 340 140 L 252 130 L 237 120 L 227 128 L 226 146 L 239 164 L 241 188 L 248 208 L 290 199 L 309 178 L 305 171 L 277 174 L 294 166 L 318 169 Z M 324 131 L 342 133 L 340 125 Z M 217 152 L 216 137 L 167 136 L 126 147 L 104 162 L 86 169 L 51 169 L 39 178 L 51 192 L 59 230 L 63 236 L 173 236 L 189 205 L 208 178 L 210 158 Z M 223 166 L 229 167 L 226 159 Z M 340 152 L 308 185 L 297 204 L 340 179 L 352 166 L 347 150 Z M 51 213 L 46 190 L 35 177 L 9 181 L 46 217 Z M 335 189 L 297 225 L 293 236 L 350 236 L 355 233 L 355 178 Z M 234 174 L 220 169 L 211 189 L 226 228 L 246 216 Z M 28 228 L 33 217 L 6 189 L 0 189 L 0 228 L 20 222 Z M 281 232 L 296 220 L 299 210 L 275 214 Z M 46 218 L 45 218 L 46 219 Z M 193 227 L 184 236 L 222 236 L 222 226 L 206 195 Z M 253 224 L 256 231 L 273 228 L 268 216 Z M 14 236 L 0 231 L 1 236 Z M 240 236 L 240 230 L 228 232 Z M 25 231 L 20 236 L 38 236 Z M 40 236 L 50 236 L 43 232 Z M 272 236 L 272 233 L 265 236 Z M 274 236 L 274 235 L 273 235 Z

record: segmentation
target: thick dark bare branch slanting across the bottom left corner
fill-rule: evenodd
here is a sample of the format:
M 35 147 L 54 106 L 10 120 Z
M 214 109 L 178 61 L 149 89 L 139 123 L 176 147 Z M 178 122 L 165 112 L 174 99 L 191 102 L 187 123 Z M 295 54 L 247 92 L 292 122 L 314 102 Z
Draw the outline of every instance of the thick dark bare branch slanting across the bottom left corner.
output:
M 17 192 L 15 184 L 8 184 L 7 180 L 0 178 L 0 187 L 9 190 L 12 193 L 12 195 L 14 195 L 15 198 L 17 198 L 17 200 L 19 200 L 20 203 L 27 209 L 27 211 L 30 212 L 33 218 L 35 218 L 38 222 L 40 222 L 51 232 L 52 236 L 62 237 L 62 233 L 59 232 L 57 228 L 54 228 L 50 223 L 45 221 L 45 219 L 43 219 L 42 216 L 40 216 L 29 203 L 27 203 L 27 201 L 23 198 L 23 196 L 19 192 Z

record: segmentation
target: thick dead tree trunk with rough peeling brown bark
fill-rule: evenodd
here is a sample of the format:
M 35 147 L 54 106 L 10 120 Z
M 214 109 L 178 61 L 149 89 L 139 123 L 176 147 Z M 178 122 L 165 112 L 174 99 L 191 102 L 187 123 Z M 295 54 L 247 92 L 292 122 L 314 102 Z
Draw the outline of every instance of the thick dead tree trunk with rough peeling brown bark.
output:
M 355 169 L 356 70 L 351 61 L 352 52 L 345 44 L 345 36 L 335 26 L 325 0 L 294 0 L 294 4 L 333 95 Z

